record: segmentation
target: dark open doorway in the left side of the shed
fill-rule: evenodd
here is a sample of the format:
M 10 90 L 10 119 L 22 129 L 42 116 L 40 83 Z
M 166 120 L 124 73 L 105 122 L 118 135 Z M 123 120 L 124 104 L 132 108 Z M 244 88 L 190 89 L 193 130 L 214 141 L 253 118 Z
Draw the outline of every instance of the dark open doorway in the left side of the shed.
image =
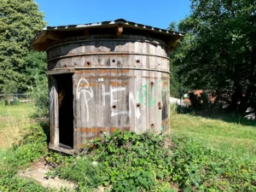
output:
M 73 149 L 73 73 L 55 75 L 58 87 L 59 147 Z

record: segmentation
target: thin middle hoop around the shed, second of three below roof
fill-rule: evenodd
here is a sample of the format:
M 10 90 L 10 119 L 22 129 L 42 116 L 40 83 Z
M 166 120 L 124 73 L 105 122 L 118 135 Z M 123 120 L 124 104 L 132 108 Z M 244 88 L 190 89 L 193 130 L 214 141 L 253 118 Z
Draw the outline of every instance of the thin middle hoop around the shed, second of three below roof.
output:
M 153 55 L 153 54 L 127 53 L 127 52 L 126 53 L 120 53 L 120 52 L 97 52 L 97 53 L 82 53 L 82 54 L 75 54 L 75 55 L 57 56 L 57 57 L 49 59 L 48 62 L 49 61 L 54 61 L 54 60 L 59 60 L 59 59 L 62 59 L 62 58 L 76 57 L 76 56 L 83 56 L 83 55 L 145 55 L 145 56 L 156 56 L 156 57 L 164 58 L 164 59 L 170 61 L 169 57 L 161 56 L 161 55 Z

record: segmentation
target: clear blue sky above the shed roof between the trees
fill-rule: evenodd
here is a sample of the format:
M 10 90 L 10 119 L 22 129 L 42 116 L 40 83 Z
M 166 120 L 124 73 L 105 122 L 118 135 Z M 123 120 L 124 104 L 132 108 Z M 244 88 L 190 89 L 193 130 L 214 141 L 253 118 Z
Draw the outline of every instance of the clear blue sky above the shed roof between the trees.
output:
M 48 26 L 125 19 L 166 29 L 189 15 L 189 0 L 35 0 Z

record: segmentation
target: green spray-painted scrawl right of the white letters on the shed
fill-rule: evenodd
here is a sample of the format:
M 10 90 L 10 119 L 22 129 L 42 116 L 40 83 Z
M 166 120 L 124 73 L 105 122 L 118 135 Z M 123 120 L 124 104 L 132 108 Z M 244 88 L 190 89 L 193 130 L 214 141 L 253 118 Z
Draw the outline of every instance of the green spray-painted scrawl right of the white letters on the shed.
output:
M 154 88 L 151 90 L 151 94 L 148 94 L 148 84 L 143 84 L 143 86 L 137 92 L 138 101 L 141 102 L 143 105 L 147 105 L 149 102 L 149 107 L 152 108 L 155 103 L 155 89 L 159 86 L 160 82 L 163 80 L 160 79 L 159 81 L 154 84 Z M 152 85 L 151 85 L 152 86 Z M 158 99 L 162 98 L 162 91 L 160 92 L 160 96 Z

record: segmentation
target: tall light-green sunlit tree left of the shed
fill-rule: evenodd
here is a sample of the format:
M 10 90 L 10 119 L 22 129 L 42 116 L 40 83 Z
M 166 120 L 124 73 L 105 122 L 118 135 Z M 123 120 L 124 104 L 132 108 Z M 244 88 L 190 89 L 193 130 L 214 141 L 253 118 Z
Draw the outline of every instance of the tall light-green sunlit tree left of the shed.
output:
M 32 49 L 32 39 L 45 25 L 43 18 L 33 0 L 0 1 L 0 93 L 26 90 L 29 63 L 24 57 Z

